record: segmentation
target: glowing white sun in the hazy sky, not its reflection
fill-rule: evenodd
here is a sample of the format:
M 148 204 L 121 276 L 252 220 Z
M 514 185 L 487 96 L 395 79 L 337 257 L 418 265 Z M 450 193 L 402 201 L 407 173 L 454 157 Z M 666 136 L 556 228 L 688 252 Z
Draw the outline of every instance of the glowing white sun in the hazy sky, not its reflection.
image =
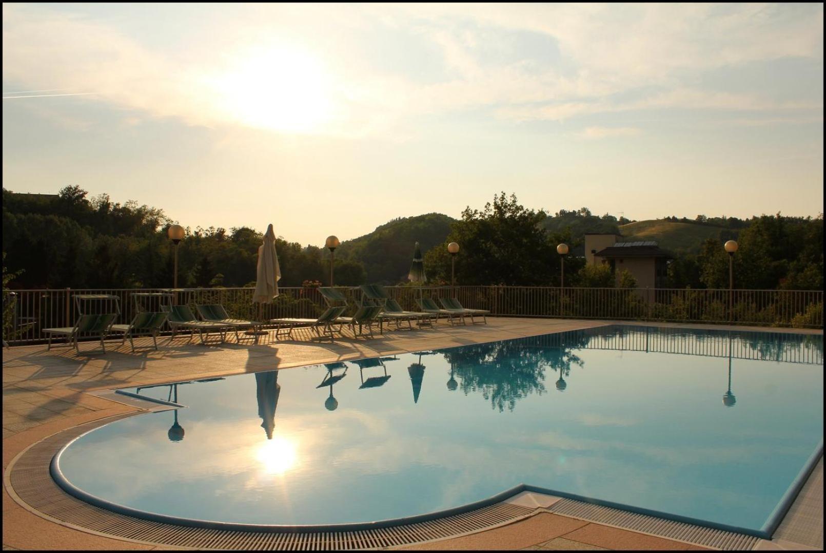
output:
M 245 126 L 313 132 L 330 120 L 328 74 L 320 60 L 294 46 L 234 55 L 213 86 L 219 109 Z

